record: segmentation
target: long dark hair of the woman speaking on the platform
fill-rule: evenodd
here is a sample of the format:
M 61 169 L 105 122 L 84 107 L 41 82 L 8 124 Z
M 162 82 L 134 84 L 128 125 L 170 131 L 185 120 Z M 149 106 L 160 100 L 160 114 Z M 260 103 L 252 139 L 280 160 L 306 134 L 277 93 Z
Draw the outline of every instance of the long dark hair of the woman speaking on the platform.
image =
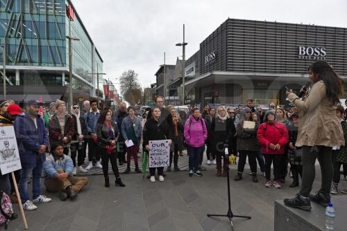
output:
M 332 66 L 325 61 L 317 61 L 311 64 L 308 71 L 316 74 L 318 80 L 325 84 L 326 95 L 332 104 L 338 104 L 339 99 L 344 94 L 344 80 L 337 75 Z

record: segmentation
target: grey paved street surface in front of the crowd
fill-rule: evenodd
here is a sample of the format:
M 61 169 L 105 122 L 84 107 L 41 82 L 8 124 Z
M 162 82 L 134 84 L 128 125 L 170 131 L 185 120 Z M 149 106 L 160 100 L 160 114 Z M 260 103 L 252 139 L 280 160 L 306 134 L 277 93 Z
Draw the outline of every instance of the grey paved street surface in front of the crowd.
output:
M 231 168 L 233 177 L 235 166 Z M 291 189 L 289 184 L 280 190 L 265 188 L 264 178 L 259 176 L 260 182 L 252 183 L 248 171 L 244 180 L 230 181 L 232 211 L 252 216 L 251 220 L 234 219 L 235 228 L 273 230 L 274 201 L 294 195 L 298 188 Z M 226 178 L 215 177 L 214 165 L 203 174 L 191 178 L 186 171 L 170 172 L 164 183 L 150 183 L 141 174 L 122 174 L 126 187 L 112 184 L 108 189 L 103 187 L 102 175 L 89 176 L 89 185 L 76 201 L 62 202 L 57 195 L 46 194 L 53 198 L 51 203 L 26 212 L 29 230 L 230 230 L 228 219 L 206 216 L 227 212 Z M 346 181 L 341 185 L 347 187 Z M 18 211 L 17 204 L 14 207 Z M 23 230 L 22 220 L 11 222 L 9 230 Z

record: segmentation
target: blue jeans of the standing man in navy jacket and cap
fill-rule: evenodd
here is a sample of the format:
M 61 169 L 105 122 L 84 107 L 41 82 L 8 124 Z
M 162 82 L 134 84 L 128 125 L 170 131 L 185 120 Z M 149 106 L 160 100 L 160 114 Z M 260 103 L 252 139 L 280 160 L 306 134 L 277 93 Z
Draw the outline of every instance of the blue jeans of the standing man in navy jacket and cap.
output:
M 40 196 L 42 169 L 43 163 L 40 161 L 37 161 L 36 167 L 22 165 L 21 177 L 19 179 L 19 194 L 21 195 L 22 203 L 25 203 L 29 199 L 28 180 L 31 173 L 33 173 L 33 200 Z

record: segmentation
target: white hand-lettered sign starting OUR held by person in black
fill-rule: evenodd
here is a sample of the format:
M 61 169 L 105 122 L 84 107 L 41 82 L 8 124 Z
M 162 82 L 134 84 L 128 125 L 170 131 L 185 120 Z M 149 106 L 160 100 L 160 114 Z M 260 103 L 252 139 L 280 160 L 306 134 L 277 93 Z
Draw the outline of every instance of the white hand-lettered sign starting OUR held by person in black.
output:
M 149 140 L 149 167 L 169 166 L 169 140 Z

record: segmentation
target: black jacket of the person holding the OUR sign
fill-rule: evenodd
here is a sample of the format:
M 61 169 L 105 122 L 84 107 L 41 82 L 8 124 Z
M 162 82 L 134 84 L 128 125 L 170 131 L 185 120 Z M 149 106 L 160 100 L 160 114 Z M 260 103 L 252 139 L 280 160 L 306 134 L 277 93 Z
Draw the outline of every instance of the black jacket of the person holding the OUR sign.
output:
M 144 124 L 143 136 L 143 146 L 146 146 L 149 144 L 149 140 L 172 140 L 172 131 L 167 120 L 160 122 L 160 120 L 156 121 L 154 118 L 150 118 Z

